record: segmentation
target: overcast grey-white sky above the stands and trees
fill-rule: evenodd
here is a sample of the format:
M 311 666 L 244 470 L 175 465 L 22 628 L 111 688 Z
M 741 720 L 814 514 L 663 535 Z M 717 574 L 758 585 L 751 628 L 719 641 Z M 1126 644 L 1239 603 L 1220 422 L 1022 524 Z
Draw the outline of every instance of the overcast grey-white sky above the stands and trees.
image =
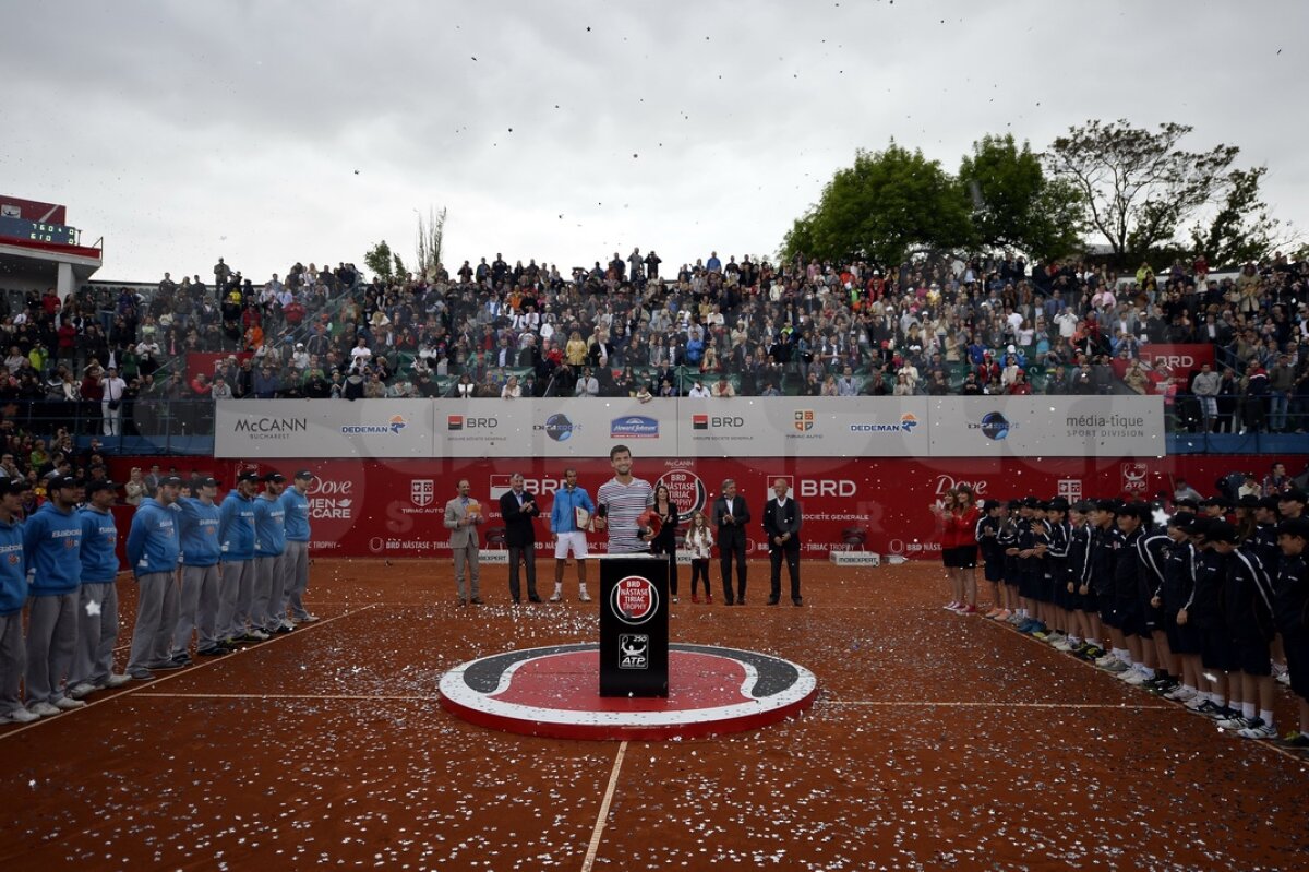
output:
M 0 192 L 68 206 L 99 279 L 335 264 L 446 207 L 445 262 L 771 255 L 895 137 L 1192 124 L 1309 228 L 1309 3 L 7 4 Z

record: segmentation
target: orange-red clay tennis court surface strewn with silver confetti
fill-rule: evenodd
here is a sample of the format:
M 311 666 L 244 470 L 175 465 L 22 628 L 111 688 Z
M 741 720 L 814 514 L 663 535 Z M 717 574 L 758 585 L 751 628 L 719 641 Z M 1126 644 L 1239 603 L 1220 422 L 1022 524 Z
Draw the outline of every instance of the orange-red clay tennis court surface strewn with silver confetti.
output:
M 822 693 L 802 718 L 672 742 L 474 727 L 439 704 L 446 669 L 597 631 L 594 604 L 511 606 L 505 572 L 484 567 L 488 605 L 459 609 L 445 562 L 317 560 L 322 622 L 0 728 L 0 865 L 1309 865 L 1309 761 L 942 611 L 925 563 L 805 563 L 804 609 L 763 605 L 761 562 L 745 609 L 683 589 L 673 639 L 808 666 Z M 1291 703 L 1280 689 L 1280 727 Z

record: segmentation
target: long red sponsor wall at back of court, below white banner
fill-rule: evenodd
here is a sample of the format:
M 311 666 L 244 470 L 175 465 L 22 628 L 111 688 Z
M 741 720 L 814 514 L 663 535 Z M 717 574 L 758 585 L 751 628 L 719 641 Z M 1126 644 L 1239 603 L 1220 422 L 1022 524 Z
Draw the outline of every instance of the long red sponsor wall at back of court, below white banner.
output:
M 833 553 L 878 554 L 884 563 L 897 559 L 940 559 L 940 539 L 929 507 L 953 487 L 967 484 L 978 499 L 1008 500 L 1018 496 L 1073 499 L 1119 498 L 1155 499 L 1172 494 L 1174 481 L 1185 478 L 1202 494 L 1215 492 L 1213 482 L 1233 470 L 1266 470 L 1282 460 L 1292 471 L 1304 467 L 1304 457 L 1203 456 L 1114 457 L 1114 458 L 1017 458 L 957 457 L 880 458 L 703 458 L 651 457 L 636 446 L 635 474 L 652 484 L 668 484 L 677 503 L 685 532 L 694 511 L 709 512 L 723 490 L 724 479 L 736 479 L 754 515 L 746 529 L 751 556 L 763 558 L 763 505 L 772 496 L 772 482 L 783 479 L 802 508 L 801 555 L 830 559 Z M 126 481 L 134 465 L 148 466 L 152 458 L 113 457 L 114 481 Z M 178 458 L 158 458 L 168 469 Z M 232 484 L 245 461 L 196 461 L 198 471 L 213 474 L 224 490 Z M 579 483 L 594 498 L 597 488 L 613 477 L 605 458 L 437 458 L 437 460 L 260 460 L 259 473 L 287 475 L 309 467 L 317 478 L 309 488 L 310 547 L 325 556 L 437 558 L 450 556 L 449 530 L 444 528 L 445 504 L 456 496 L 461 478 L 473 484 L 473 496 L 482 503 L 487 521 L 478 533 L 483 549 L 493 553 L 491 534 L 504 528 L 499 496 L 518 471 L 526 490 L 537 495 L 543 517 L 535 522 L 537 554 L 545 563 L 552 559 L 550 508 L 554 494 L 563 486 L 565 466 L 575 466 Z M 186 469 L 179 470 L 183 477 Z M 120 518 L 119 529 L 130 524 Z M 603 534 L 589 534 L 590 549 L 606 550 Z M 717 556 L 717 555 L 715 555 Z M 499 559 L 499 558 L 497 558 Z

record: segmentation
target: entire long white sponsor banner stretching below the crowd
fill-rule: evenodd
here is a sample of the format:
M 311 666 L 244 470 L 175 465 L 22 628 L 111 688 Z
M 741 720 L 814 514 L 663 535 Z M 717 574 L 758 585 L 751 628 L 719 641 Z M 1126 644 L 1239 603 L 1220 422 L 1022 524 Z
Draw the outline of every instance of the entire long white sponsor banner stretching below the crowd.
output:
M 233 399 L 215 457 L 1162 456 L 1161 397 Z

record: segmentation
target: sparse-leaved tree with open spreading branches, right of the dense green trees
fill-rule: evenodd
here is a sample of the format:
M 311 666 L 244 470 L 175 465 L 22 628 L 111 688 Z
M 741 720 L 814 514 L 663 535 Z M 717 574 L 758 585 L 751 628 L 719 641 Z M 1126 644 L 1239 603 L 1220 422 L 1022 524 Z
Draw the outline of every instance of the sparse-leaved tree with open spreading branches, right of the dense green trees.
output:
M 1178 143 L 1191 130 L 1168 122 L 1151 132 L 1123 119 L 1089 120 L 1068 128 L 1046 152 L 1055 178 L 1085 198 L 1090 224 L 1109 241 L 1119 266 L 1172 242 L 1183 223 L 1227 190 L 1241 149 L 1183 151 Z

